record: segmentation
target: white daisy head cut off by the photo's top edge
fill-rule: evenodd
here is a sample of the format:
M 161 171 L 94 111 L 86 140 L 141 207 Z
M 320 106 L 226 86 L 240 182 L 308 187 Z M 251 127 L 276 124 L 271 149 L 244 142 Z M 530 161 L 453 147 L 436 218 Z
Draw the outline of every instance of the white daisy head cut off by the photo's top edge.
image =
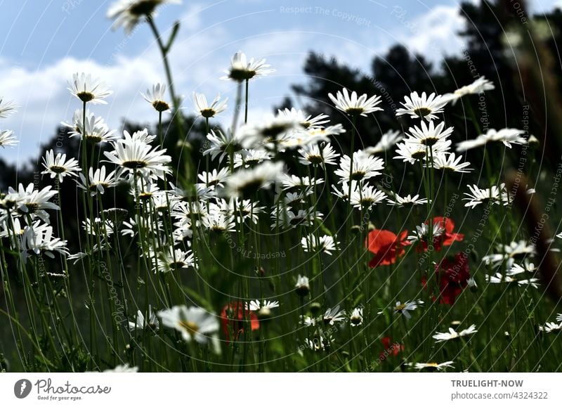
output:
M 113 29 L 124 27 L 130 34 L 145 18 L 156 15 L 156 8 L 164 4 L 181 4 L 181 0 L 117 0 L 107 10 L 107 18 L 115 19 Z

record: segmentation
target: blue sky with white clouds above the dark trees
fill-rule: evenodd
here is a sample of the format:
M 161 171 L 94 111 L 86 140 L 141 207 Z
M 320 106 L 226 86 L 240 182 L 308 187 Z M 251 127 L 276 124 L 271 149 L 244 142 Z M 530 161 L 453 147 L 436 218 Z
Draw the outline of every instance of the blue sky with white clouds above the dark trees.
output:
M 66 89 L 73 72 L 91 73 L 110 85 L 115 93 L 108 105 L 93 111 L 113 128 L 124 117 L 156 119 L 140 95 L 164 81 L 155 41 L 145 24 L 130 37 L 112 30 L 105 13 L 113 1 L 0 0 L 0 97 L 20 106 L 0 122 L 1 129 L 15 131 L 20 145 L 0 150 L 0 157 L 37 159 L 39 143 L 79 107 Z M 540 11 L 556 0 L 532 4 Z M 233 103 L 233 84 L 218 77 L 235 51 L 267 58 L 275 74 L 251 85 L 250 117 L 257 118 L 290 94 L 290 84 L 306 81 L 302 66 L 309 51 L 365 72 L 375 54 L 397 42 L 433 60 L 457 53 L 458 8 L 456 0 L 183 1 L 162 7 L 156 22 L 167 32 L 181 21 L 170 58 L 187 109 L 194 90 L 208 98 L 220 92 Z

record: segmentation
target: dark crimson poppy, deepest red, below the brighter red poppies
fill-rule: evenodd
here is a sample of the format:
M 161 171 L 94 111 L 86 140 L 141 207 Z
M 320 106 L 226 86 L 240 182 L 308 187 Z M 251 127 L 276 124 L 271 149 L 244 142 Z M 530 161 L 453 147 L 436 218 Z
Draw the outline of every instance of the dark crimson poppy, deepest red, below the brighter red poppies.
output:
M 465 253 L 457 253 L 453 259 L 443 259 L 436 265 L 439 278 L 439 292 L 441 304 L 455 304 L 455 300 L 466 288 L 470 278 L 469 258 Z M 426 277 L 421 278 L 421 284 L 426 287 Z M 432 297 L 435 301 L 435 296 Z

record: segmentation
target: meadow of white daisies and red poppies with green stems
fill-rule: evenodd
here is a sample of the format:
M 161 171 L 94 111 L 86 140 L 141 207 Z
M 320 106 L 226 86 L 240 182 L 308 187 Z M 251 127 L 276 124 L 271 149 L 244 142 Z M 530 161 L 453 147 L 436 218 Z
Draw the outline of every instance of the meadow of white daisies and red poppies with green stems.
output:
M 540 143 L 526 129 L 482 129 L 467 115 L 480 135 L 454 142 L 447 125 L 447 109 L 493 82 L 404 95 L 404 131 L 374 146 L 356 127 L 377 125 L 385 101 L 361 89 L 329 94 L 338 117 L 253 117 L 248 95 L 275 67 L 241 51 L 220 78 L 234 100 L 181 101 L 166 59 L 174 34 L 162 39 L 154 19 L 171 3 L 117 1 L 108 13 L 125 30 L 147 20 L 159 41 L 166 81 L 143 93 L 155 131 L 110 129 L 96 105 L 111 86 L 77 73 L 65 125 L 79 150 L 42 157 L 51 185 L 0 196 L 0 320 L 13 344 L 2 368 L 561 370 L 556 270 L 545 278 L 543 261 L 562 234 L 545 242 L 516 210 L 558 181 L 537 178 Z M 164 141 L 188 103 L 207 130 L 203 158 L 175 162 Z M 0 118 L 16 110 L 0 99 Z M 1 147 L 17 142 L 1 131 Z M 509 178 L 506 163 L 522 157 Z M 78 219 L 65 215 L 63 184 Z

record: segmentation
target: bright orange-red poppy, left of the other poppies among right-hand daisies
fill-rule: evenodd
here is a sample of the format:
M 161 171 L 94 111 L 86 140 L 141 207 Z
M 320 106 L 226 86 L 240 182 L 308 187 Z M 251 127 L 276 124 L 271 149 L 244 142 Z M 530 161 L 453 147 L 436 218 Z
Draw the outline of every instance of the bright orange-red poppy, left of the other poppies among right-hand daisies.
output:
M 407 239 L 408 231 L 395 235 L 391 231 L 374 229 L 365 239 L 365 247 L 374 253 L 369 261 L 370 267 L 388 266 L 396 262 L 405 253 L 404 246 L 410 245 Z

